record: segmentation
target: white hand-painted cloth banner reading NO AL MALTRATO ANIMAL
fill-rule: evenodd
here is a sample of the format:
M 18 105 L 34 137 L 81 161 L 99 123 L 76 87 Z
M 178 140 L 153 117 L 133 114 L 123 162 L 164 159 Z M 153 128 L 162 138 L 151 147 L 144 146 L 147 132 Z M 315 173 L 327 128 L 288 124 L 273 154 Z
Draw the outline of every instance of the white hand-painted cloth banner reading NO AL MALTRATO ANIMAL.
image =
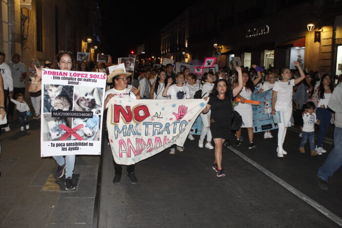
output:
M 173 144 L 183 146 L 206 104 L 203 99 L 110 99 L 107 129 L 115 162 L 134 164 Z

